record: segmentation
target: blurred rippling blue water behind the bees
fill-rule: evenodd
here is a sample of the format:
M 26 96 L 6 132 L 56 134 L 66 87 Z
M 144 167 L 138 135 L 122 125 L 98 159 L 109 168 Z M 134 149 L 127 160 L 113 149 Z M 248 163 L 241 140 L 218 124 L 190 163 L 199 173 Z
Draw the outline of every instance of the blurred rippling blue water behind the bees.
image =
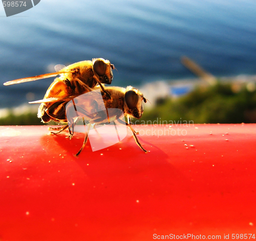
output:
M 1 4 L 0 4 L 1 5 Z M 254 0 L 41 0 L 5 17 L 0 7 L 0 108 L 42 99 L 53 79 L 6 81 L 102 57 L 118 69 L 113 85 L 191 78 L 188 56 L 216 76 L 256 74 Z

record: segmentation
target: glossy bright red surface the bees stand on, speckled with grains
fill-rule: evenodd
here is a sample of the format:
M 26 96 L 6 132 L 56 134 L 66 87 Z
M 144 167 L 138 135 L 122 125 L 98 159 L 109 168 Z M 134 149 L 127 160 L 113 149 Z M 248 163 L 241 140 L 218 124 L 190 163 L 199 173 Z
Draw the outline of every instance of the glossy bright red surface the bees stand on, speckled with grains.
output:
M 47 128 L 0 127 L 0 240 L 256 236 L 256 125 L 139 126 L 147 154 L 130 133 L 79 158 Z

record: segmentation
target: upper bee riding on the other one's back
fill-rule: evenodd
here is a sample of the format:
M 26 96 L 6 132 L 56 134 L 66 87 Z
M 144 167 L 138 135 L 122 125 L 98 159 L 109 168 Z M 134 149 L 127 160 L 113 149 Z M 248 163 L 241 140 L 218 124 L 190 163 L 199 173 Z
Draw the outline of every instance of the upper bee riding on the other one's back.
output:
M 115 69 L 115 66 L 109 60 L 98 58 L 92 61 L 80 61 L 69 66 L 58 64 L 55 66 L 56 73 L 13 80 L 4 83 L 4 85 L 35 81 L 60 75 L 50 85 L 44 97 L 44 99 L 56 98 L 56 102 L 41 103 L 37 116 L 41 118 L 43 123 L 48 123 L 51 119 L 54 122 L 61 122 L 66 119 L 65 105 L 63 105 L 63 102 L 57 101 L 57 99 L 74 94 L 82 94 L 90 91 L 96 85 L 99 85 L 102 92 L 110 98 L 109 93 L 105 91 L 102 84 L 111 84 L 113 69 Z

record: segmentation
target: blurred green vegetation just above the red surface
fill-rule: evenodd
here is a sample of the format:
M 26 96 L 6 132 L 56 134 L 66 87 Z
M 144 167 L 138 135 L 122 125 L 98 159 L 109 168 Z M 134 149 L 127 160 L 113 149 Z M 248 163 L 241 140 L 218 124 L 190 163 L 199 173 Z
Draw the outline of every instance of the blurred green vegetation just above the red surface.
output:
M 232 83 L 218 83 L 214 86 L 198 86 L 180 98 L 158 99 L 156 106 L 145 110 L 136 124 L 158 124 L 178 121 L 196 123 L 256 123 L 256 91 L 248 91 L 246 86 L 232 90 Z M 133 123 L 137 119 L 133 119 Z M 191 122 L 190 122 L 191 123 Z M 165 122 L 166 124 L 166 122 Z M 44 125 L 36 113 L 0 118 L 0 125 Z M 50 125 L 54 125 L 53 122 Z

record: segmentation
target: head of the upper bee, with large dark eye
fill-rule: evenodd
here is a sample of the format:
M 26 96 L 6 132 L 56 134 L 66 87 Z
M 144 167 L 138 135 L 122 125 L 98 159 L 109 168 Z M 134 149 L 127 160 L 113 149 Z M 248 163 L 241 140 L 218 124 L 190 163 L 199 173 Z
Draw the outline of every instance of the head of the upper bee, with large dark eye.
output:
M 113 79 L 112 69 L 115 69 L 115 66 L 109 60 L 93 59 L 93 72 L 99 76 L 101 83 L 111 84 Z

